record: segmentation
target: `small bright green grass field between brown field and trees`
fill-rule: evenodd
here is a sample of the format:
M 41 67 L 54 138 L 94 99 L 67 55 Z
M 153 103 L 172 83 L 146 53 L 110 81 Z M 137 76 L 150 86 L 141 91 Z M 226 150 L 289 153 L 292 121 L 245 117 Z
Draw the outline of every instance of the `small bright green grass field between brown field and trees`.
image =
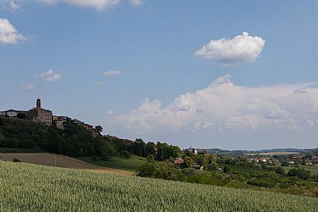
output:
M 131 158 L 117 158 L 112 157 L 111 161 L 93 161 L 92 157 L 80 157 L 77 158 L 81 161 L 85 161 L 87 163 L 93 163 L 95 165 L 100 165 L 108 168 L 115 168 L 118 170 L 127 170 L 130 172 L 136 172 L 138 168 L 141 167 L 141 165 L 145 164 L 147 162 L 146 158 L 143 158 L 141 156 L 132 155 Z

